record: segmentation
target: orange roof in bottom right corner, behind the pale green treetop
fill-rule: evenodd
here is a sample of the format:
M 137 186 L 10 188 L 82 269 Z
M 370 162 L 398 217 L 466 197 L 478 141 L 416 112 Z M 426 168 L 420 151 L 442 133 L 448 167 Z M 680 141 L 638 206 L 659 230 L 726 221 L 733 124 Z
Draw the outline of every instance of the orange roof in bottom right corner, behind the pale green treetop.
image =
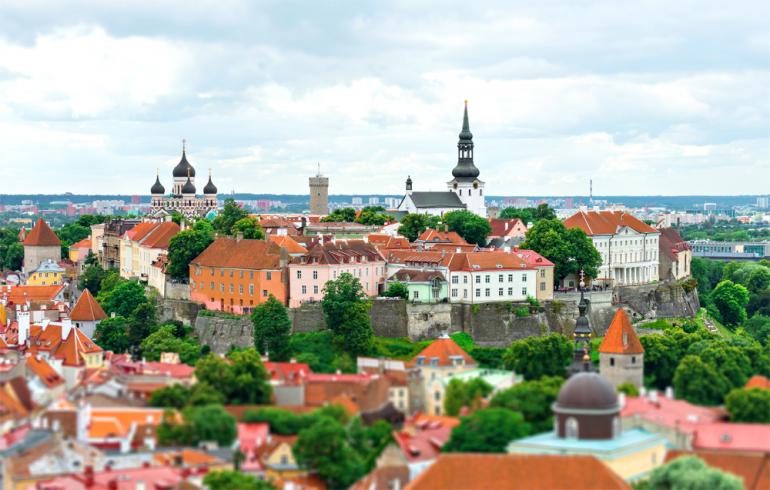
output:
M 708 466 L 717 468 L 743 480 L 747 490 L 767 490 L 770 488 L 770 453 L 726 453 L 723 451 L 682 451 L 670 450 L 666 453 L 666 463 L 682 456 L 697 456 Z

